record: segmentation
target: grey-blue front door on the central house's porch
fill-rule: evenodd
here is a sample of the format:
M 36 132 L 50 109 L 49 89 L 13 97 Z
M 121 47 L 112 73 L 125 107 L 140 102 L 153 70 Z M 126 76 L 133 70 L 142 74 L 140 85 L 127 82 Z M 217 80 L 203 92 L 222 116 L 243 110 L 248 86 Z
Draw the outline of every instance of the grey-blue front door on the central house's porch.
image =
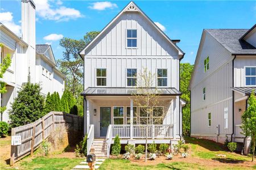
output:
M 108 132 L 108 128 L 111 121 L 111 108 L 110 107 L 101 107 L 101 122 L 100 122 L 100 130 L 101 137 L 106 137 Z

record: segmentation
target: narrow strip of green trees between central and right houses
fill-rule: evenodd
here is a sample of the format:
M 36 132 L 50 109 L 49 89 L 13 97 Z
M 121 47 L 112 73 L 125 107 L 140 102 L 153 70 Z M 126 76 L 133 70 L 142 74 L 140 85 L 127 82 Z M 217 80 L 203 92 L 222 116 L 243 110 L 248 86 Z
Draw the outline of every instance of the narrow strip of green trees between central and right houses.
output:
M 193 65 L 189 63 L 180 63 L 180 92 L 182 93 L 181 99 L 186 101 L 183 107 L 182 117 L 182 133 L 185 136 L 190 135 L 190 91 L 188 90 L 189 81 L 193 72 Z

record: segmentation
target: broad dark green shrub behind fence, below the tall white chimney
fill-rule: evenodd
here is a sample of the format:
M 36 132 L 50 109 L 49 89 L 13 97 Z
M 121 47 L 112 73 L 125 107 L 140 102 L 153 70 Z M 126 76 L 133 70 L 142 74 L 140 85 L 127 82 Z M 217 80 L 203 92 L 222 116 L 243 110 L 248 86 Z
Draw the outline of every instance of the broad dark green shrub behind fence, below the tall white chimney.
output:
M 28 82 L 24 84 L 18 92 L 18 96 L 14 99 L 10 109 L 11 127 L 30 124 L 43 116 L 44 97 L 41 95 L 41 87 L 39 84 L 30 82 L 30 74 L 28 74 Z

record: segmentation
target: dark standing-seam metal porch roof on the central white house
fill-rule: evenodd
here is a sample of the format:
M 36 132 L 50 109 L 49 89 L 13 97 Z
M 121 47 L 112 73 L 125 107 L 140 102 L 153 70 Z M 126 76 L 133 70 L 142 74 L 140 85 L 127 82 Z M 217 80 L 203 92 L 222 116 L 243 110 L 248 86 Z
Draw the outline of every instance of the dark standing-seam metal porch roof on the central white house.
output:
M 152 94 L 154 94 L 154 90 L 155 88 L 151 88 Z M 81 93 L 81 96 L 131 96 L 133 94 L 136 94 L 136 88 L 88 87 Z M 181 92 L 176 88 L 158 88 L 158 95 L 180 96 Z

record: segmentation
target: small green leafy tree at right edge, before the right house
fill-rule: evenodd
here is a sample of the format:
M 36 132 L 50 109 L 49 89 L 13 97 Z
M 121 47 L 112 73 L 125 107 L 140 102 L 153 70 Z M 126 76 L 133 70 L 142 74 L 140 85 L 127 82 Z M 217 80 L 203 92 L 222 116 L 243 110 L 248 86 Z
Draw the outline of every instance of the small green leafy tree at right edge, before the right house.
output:
M 251 147 L 253 150 L 253 159 L 255 154 L 255 139 L 256 139 L 256 98 L 254 91 L 248 99 L 248 107 L 242 114 L 242 130 L 245 137 L 251 137 Z M 253 161 L 252 159 L 252 161 Z

